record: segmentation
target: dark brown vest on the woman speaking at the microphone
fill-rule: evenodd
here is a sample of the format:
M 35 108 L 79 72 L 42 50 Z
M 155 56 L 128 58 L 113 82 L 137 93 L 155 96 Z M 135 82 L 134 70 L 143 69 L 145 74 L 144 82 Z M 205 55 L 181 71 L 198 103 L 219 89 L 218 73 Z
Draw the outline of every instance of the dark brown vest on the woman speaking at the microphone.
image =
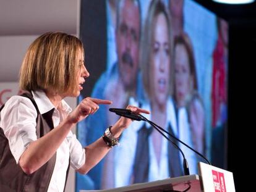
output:
M 33 99 L 32 93 L 23 93 L 21 96 L 29 98 L 36 108 L 36 136 L 40 138 L 53 127 L 53 110 L 40 114 L 36 102 Z M 3 107 L 3 106 L 2 106 Z M 2 109 L 1 107 L 1 109 Z M 1 111 L 0 109 L 0 111 Z M 9 143 L 4 135 L 4 131 L 0 128 L 0 191 L 38 191 L 43 192 L 48 190 L 51 175 L 56 161 L 56 153 L 46 164 L 31 175 L 27 175 L 20 168 L 20 165 L 15 162 L 9 148 Z M 68 170 L 67 170 L 68 173 Z M 67 177 L 66 177 L 67 178 Z M 67 179 L 66 179 L 67 181 Z

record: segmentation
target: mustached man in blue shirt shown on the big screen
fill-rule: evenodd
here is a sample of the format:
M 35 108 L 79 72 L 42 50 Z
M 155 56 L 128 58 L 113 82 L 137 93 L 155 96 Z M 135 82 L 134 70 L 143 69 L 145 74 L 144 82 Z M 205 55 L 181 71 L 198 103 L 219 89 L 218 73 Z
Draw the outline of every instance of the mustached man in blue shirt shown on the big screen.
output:
M 142 91 L 139 88 L 140 3 L 138 0 L 123 0 L 117 1 L 116 6 L 114 35 L 117 61 L 109 64 L 109 68 L 96 81 L 92 97 L 111 99 L 113 105 L 109 107 L 124 108 L 128 103 L 138 106 L 139 95 L 141 95 L 139 91 Z M 111 57 L 109 52 L 111 50 L 108 50 L 108 57 Z M 100 107 L 98 112 L 85 122 L 86 142 L 92 143 L 118 118 L 119 116 L 108 111 L 108 107 Z M 88 175 L 92 178 L 96 189 L 113 188 L 115 186 L 114 150 L 112 149 L 105 160 L 101 161 Z

